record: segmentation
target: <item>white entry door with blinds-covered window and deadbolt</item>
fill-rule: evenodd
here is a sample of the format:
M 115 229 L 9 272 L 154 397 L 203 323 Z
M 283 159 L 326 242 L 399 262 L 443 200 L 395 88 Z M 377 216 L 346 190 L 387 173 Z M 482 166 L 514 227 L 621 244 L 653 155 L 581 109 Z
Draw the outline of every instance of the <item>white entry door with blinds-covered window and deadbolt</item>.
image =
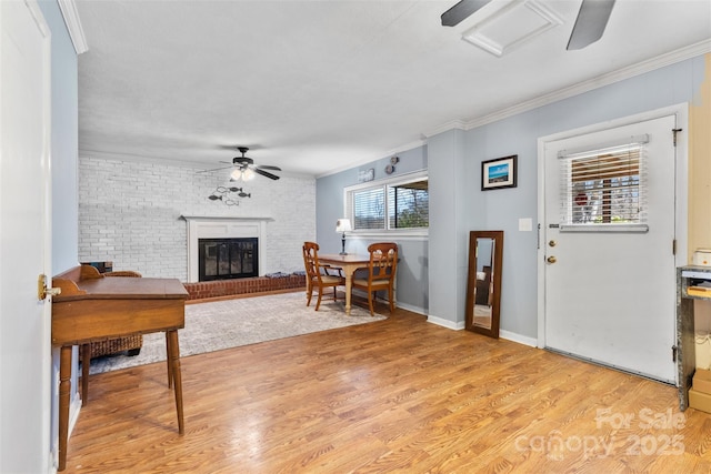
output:
M 669 115 L 545 143 L 540 243 L 545 347 L 670 383 L 675 127 Z

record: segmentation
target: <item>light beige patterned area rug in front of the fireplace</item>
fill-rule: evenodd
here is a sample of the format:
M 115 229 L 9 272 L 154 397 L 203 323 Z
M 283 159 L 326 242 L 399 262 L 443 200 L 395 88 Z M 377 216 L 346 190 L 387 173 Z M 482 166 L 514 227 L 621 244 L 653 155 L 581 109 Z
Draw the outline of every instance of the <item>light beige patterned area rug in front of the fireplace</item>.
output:
M 333 301 L 327 295 L 321 300 L 319 311 L 314 311 L 314 306 L 316 294 L 307 307 L 302 291 L 188 304 L 186 327 L 178 331 L 180 355 L 202 354 L 385 319 L 380 314 L 371 316 L 368 310 L 359 306 L 353 306 L 351 315 L 347 316 L 343 301 Z M 98 374 L 164 360 L 166 335 L 146 334 L 139 355 L 92 359 L 89 373 Z

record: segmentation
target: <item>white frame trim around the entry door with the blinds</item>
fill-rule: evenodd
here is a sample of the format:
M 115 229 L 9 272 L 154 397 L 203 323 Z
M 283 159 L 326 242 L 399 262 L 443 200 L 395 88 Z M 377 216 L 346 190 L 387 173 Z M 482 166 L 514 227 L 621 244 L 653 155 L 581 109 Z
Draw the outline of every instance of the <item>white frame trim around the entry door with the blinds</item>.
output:
M 689 104 L 680 103 L 665 107 L 634 115 L 614 119 L 607 122 L 595 123 L 579 129 L 567 130 L 538 139 L 538 347 L 545 347 L 545 245 L 541 242 L 541 223 L 545 221 L 545 144 L 549 142 L 564 140 L 578 135 L 599 132 L 632 123 L 659 119 L 668 115 L 677 115 L 677 128 L 681 129 L 677 133 L 675 148 L 675 222 L 674 234 L 677 239 L 677 255 L 674 263 L 677 266 L 685 265 L 687 262 L 687 235 L 688 226 L 688 204 L 689 204 Z M 671 133 L 671 131 L 670 131 Z

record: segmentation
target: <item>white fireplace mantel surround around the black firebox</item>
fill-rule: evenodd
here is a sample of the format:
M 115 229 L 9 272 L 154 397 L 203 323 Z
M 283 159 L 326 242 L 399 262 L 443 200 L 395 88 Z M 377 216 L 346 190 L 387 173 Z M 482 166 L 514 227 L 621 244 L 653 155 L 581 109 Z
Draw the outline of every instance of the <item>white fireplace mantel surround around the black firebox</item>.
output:
M 263 275 L 264 252 L 267 249 L 267 223 L 272 218 L 229 218 L 206 215 L 181 215 L 188 223 L 188 283 L 197 283 L 198 240 L 199 239 L 259 239 L 259 274 Z

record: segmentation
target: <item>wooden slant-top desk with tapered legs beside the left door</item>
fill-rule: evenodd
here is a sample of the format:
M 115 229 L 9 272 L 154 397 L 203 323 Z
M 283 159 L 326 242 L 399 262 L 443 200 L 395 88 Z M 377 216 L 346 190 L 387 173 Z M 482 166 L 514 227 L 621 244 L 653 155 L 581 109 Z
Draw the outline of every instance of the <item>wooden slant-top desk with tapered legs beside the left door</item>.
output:
M 174 387 L 178 432 L 184 433 L 178 330 L 186 325 L 188 292 L 173 279 L 107 279 L 89 265 L 52 279 L 52 344 L 59 365 L 59 471 L 67 466 L 72 345 L 108 337 L 166 333 L 168 385 Z M 89 361 L 84 361 L 88 363 Z

